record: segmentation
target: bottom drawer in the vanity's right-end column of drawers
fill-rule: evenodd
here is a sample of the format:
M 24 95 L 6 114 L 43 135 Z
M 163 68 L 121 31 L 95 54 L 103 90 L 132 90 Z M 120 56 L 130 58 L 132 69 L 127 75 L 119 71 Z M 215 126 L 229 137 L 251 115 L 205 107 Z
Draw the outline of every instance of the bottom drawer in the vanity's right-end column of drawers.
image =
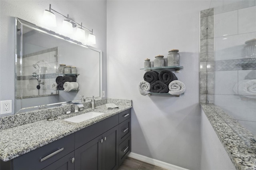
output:
M 119 145 L 119 166 L 122 164 L 122 162 L 125 160 L 125 158 L 128 156 L 128 154 L 131 152 L 131 136 L 128 136 Z

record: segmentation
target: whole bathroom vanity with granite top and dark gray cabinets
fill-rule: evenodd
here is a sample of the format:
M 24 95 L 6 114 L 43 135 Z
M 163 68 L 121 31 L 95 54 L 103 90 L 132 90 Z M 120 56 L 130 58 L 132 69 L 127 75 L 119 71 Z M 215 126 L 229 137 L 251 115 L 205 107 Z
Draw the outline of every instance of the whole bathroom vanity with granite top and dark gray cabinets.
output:
M 102 99 L 104 100 L 104 99 Z M 103 115 L 81 123 L 64 119 L 37 121 L 0 131 L 9 134 L 0 146 L 1 170 L 112 170 L 131 152 L 131 105 L 108 110 L 94 109 Z M 86 114 L 85 109 L 78 114 Z M 18 134 L 23 136 L 20 138 Z M 15 139 L 17 139 L 15 141 Z

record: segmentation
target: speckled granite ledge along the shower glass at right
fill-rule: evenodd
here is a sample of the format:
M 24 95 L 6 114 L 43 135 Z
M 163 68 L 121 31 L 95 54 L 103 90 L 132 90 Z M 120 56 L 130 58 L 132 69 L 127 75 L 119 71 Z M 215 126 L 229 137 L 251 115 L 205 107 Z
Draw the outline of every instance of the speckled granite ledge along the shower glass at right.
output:
M 220 107 L 202 103 L 201 107 L 236 169 L 255 170 L 256 150 L 246 145 L 253 135 L 234 121 Z M 243 140 L 238 134 L 242 135 Z

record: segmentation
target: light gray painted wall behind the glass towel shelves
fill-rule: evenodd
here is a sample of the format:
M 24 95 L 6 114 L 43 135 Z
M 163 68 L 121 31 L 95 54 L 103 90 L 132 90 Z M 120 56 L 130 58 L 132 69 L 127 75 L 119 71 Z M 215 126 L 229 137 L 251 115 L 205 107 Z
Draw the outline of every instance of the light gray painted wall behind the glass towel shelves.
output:
M 107 1 L 108 97 L 132 99 L 132 152 L 200 169 L 200 11 L 210 1 Z M 184 95 L 142 96 L 144 59 L 180 49 Z

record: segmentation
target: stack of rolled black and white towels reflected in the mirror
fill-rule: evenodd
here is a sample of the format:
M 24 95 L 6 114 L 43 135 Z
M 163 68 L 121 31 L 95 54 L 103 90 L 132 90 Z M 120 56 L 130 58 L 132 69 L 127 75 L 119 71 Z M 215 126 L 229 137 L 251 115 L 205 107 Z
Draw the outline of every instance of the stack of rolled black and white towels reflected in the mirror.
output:
M 79 85 L 74 75 L 58 76 L 56 77 L 56 83 L 52 84 L 52 89 L 64 90 L 65 92 L 78 90 L 78 87 Z

